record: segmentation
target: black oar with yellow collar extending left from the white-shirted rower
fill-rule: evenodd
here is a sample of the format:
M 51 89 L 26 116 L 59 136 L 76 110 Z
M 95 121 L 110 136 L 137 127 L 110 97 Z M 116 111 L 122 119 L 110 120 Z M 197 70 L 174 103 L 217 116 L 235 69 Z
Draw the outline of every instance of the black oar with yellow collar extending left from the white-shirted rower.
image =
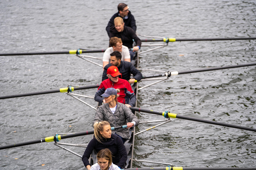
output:
M 9 56 L 9 55 L 45 55 L 45 54 L 82 54 L 82 53 L 103 53 L 106 49 L 78 49 L 78 50 L 69 50 L 65 52 L 31 52 L 31 53 L 3 53 L 0 56 Z

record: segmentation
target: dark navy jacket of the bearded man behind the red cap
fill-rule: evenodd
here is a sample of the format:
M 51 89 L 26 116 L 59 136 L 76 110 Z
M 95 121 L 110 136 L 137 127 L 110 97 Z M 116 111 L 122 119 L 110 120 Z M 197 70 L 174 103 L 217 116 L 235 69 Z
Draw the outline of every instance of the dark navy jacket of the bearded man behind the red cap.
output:
M 109 63 L 104 67 L 104 71 L 102 74 L 102 81 L 108 79 L 107 77 L 107 70 L 112 64 Z M 142 79 L 142 74 L 139 70 L 136 69 L 130 62 L 121 61 L 121 64 L 117 67 L 118 71 L 122 74 L 119 75 L 119 78 L 129 81 L 130 74 L 133 74 L 133 79 L 140 81 Z

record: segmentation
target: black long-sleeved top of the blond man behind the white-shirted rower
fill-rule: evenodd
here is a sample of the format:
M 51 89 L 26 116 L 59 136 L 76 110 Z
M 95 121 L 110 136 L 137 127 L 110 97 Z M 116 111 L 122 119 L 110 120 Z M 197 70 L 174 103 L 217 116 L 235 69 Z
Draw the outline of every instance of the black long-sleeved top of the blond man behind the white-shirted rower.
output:
M 136 33 L 133 31 L 131 27 L 126 27 L 124 25 L 124 30 L 122 32 L 118 32 L 115 27 L 110 28 L 110 38 L 118 37 L 122 39 L 123 45 L 132 48 L 133 39 L 137 46 L 141 47 L 141 40 L 137 37 Z

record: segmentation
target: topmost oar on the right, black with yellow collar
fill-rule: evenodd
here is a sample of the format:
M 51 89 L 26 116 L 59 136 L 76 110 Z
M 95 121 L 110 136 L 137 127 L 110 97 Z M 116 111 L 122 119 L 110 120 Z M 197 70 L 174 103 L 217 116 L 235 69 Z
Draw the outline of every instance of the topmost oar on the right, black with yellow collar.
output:
M 241 37 L 241 38 L 159 38 L 159 39 L 140 39 L 141 42 L 161 42 L 164 41 L 165 43 L 169 42 L 175 42 L 175 41 L 221 41 L 221 40 L 250 40 L 250 39 L 256 39 L 256 37 Z

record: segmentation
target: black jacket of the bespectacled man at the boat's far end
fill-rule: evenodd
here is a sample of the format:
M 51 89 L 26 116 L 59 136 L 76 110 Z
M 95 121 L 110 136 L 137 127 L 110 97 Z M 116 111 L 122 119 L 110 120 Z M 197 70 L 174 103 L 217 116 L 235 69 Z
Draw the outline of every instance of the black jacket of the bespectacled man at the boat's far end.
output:
M 108 22 L 108 25 L 106 27 L 106 31 L 108 32 L 108 37 L 110 35 L 110 28 L 113 27 L 115 24 L 114 24 L 114 20 L 117 16 L 120 16 L 119 15 L 119 12 L 115 13 L 109 20 Z M 120 16 L 121 17 L 121 16 Z M 127 19 L 126 17 L 123 18 L 124 20 L 124 25 L 126 25 L 127 27 L 131 27 L 134 32 L 136 32 L 136 29 L 137 29 L 137 26 L 136 26 L 136 22 L 135 22 L 135 19 L 134 19 L 134 16 L 132 15 L 131 11 L 129 11 L 128 15 L 127 15 Z

